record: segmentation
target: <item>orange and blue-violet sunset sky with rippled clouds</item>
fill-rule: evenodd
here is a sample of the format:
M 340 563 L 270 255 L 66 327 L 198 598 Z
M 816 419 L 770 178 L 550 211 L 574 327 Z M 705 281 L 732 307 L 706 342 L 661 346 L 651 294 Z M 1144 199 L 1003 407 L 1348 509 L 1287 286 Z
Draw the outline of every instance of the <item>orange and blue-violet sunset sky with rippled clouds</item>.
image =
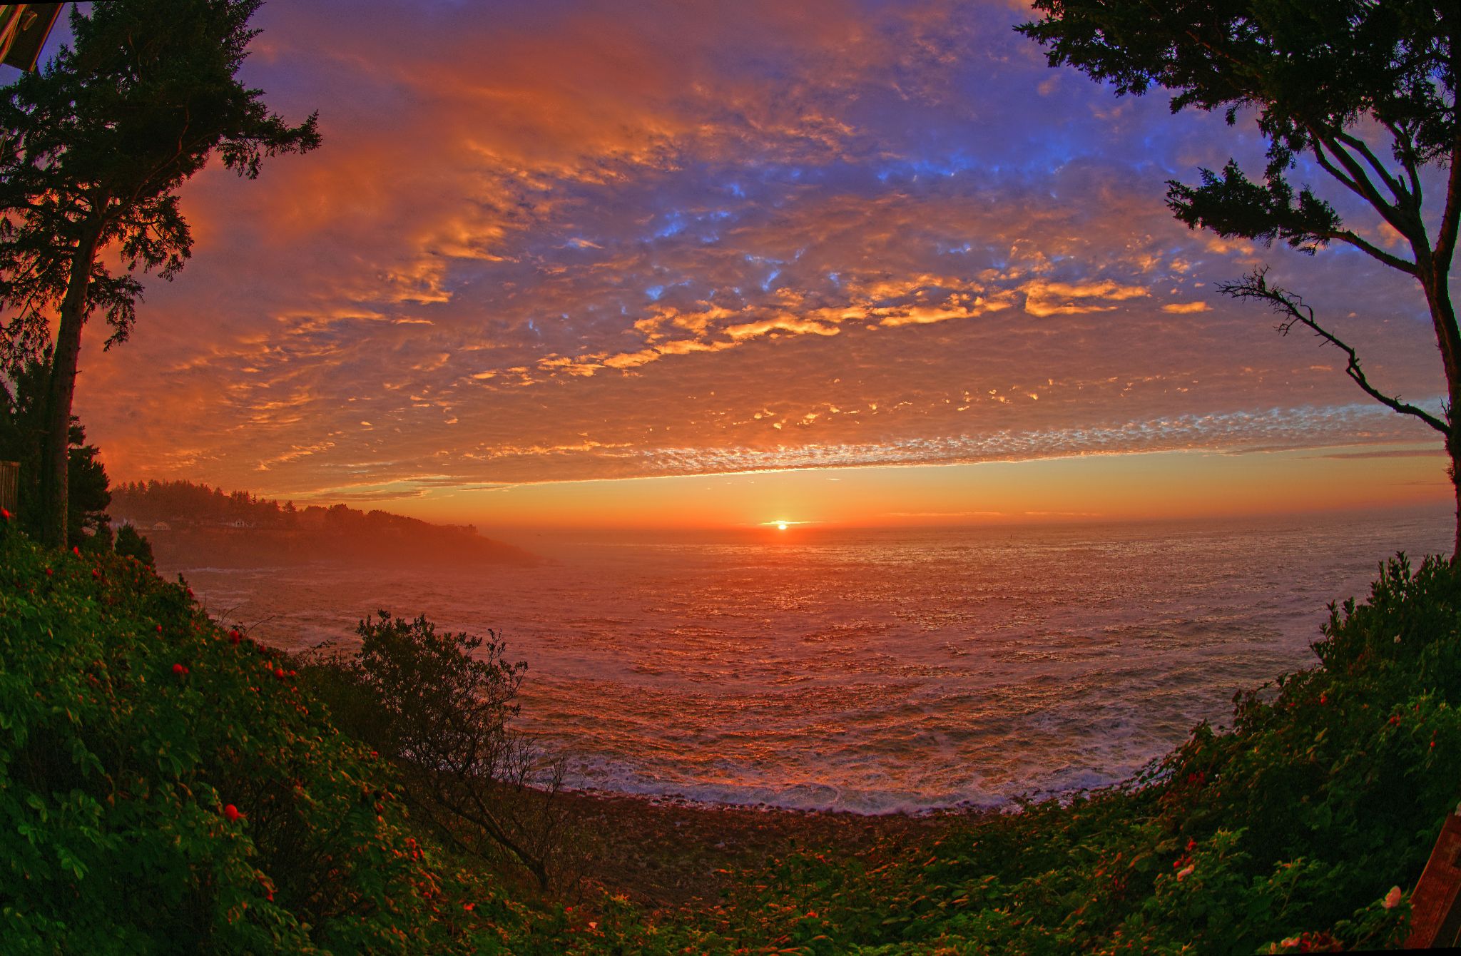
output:
M 243 77 L 324 145 L 184 186 L 193 257 L 76 411 L 114 479 L 485 528 L 1445 501 L 1429 430 L 1216 288 L 1270 265 L 1436 408 L 1413 281 L 1176 222 L 1251 117 L 1049 69 L 1027 16 L 266 3 Z

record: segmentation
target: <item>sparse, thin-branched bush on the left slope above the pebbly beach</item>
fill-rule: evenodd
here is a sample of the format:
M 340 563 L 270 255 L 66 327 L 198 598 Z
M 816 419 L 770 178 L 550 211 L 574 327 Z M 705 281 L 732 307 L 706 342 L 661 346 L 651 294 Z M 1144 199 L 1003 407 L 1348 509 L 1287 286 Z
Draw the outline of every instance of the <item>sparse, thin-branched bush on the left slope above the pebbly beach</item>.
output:
M 497 862 L 506 851 L 541 887 L 560 849 L 560 763 L 511 728 L 526 664 L 489 639 L 438 634 L 380 611 L 359 623 L 359 653 L 302 659 L 336 722 L 400 762 L 408 803 L 457 848 Z

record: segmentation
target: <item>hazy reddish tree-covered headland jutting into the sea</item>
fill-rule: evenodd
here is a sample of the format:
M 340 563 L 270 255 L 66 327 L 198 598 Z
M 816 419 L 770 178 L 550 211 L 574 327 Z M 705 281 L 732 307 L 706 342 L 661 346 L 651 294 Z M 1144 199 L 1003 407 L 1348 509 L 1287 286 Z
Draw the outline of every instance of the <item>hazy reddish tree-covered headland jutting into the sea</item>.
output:
M 248 491 L 191 481 L 129 481 L 112 488 L 111 516 L 140 528 L 159 561 L 228 555 L 231 564 L 288 560 L 532 561 L 475 525 L 432 525 L 345 504 L 295 507 Z M 222 550 L 219 545 L 224 544 Z

